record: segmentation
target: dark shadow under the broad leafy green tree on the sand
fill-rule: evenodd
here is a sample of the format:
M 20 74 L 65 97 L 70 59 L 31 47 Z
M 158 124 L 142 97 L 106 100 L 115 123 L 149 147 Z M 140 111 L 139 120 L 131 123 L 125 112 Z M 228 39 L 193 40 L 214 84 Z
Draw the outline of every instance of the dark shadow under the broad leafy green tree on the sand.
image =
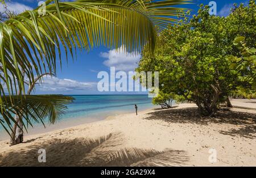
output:
M 199 110 L 193 108 L 166 109 L 148 113 L 147 120 L 163 120 L 168 123 L 190 123 L 199 125 L 233 124 L 241 126 L 239 129 L 221 131 L 221 134 L 240 136 L 250 139 L 256 138 L 256 115 L 255 113 L 225 111 L 221 109 L 216 117 L 202 117 Z

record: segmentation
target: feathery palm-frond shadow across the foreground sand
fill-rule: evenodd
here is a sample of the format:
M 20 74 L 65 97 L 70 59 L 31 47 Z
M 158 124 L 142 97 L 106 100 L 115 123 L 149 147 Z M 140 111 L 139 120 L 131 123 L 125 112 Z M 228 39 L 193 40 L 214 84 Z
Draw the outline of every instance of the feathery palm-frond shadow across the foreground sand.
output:
M 185 166 L 189 161 L 185 151 L 124 148 L 123 141 L 121 133 L 98 139 L 52 139 L 28 151 L 0 155 L 0 166 Z M 46 150 L 46 163 L 38 162 L 39 149 Z

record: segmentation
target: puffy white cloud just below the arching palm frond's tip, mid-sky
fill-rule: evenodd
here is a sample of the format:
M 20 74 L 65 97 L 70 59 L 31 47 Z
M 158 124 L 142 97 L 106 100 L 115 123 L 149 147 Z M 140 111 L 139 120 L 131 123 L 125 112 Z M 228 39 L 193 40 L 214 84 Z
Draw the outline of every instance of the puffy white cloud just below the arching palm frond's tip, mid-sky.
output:
M 117 71 L 134 71 L 138 66 L 140 55 L 135 53 L 126 53 L 122 47 L 115 50 L 109 50 L 109 52 L 101 53 L 101 57 L 108 58 L 103 63 L 108 67 L 115 67 Z

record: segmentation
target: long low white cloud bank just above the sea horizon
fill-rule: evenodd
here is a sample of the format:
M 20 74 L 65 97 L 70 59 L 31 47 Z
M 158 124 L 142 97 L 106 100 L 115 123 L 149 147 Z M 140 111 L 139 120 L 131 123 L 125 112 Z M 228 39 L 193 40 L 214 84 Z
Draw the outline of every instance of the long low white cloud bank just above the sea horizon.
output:
M 36 86 L 40 91 L 74 91 L 88 90 L 96 86 L 95 82 L 78 82 L 72 79 L 59 79 L 57 77 L 44 77 L 42 84 Z

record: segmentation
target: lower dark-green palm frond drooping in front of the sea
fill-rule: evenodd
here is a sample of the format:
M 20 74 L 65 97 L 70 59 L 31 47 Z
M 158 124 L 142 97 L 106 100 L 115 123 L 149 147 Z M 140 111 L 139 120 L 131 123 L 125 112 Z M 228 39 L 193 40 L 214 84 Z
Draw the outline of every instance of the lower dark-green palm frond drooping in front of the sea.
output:
M 3 107 L 1 108 L 0 124 L 10 134 L 13 124 L 17 124 L 15 115 L 22 120 L 27 130 L 27 126 L 32 122 L 42 122 L 48 119 L 49 123 L 54 124 L 57 119 L 67 111 L 67 104 L 71 103 L 74 98 L 64 95 L 22 95 L 1 97 Z

